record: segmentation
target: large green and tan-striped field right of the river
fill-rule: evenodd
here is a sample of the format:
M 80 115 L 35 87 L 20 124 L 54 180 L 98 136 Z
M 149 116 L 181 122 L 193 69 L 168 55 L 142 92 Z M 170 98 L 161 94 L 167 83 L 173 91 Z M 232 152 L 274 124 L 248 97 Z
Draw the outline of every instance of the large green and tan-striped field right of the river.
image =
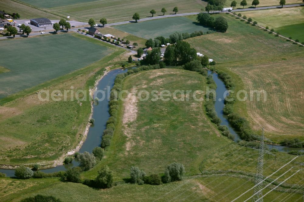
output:
M 227 33 L 187 39 L 198 52 L 219 62 L 216 68 L 228 72 L 235 90 L 267 91 L 267 101 L 238 102 L 236 112 L 250 120 L 254 129 L 265 127 L 275 141 L 303 134 L 302 101 L 303 47 L 275 37 L 230 15 Z

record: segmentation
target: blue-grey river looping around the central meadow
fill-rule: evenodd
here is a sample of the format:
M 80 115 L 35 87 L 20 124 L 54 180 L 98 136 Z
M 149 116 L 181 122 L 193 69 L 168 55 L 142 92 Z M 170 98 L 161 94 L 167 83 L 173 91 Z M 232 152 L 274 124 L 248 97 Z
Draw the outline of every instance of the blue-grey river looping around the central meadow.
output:
M 108 86 L 110 88 L 114 85 L 114 80 L 117 74 L 127 72 L 127 69 L 115 69 L 108 72 L 97 84 L 97 90 L 107 90 Z M 214 81 L 216 82 L 216 103 L 215 103 L 215 110 L 218 117 L 222 120 L 222 125 L 226 125 L 231 134 L 234 136 L 234 141 L 241 140 L 238 134 L 233 130 L 227 120 L 227 116 L 223 114 L 223 107 L 224 107 L 224 93 L 227 90 L 223 81 L 220 80 L 216 73 L 208 71 L 208 74 L 213 76 Z M 101 98 L 100 93 L 98 94 L 98 98 Z M 99 101 L 97 105 L 93 105 L 93 114 L 92 118 L 95 119 L 95 124 L 90 127 L 88 132 L 88 136 L 81 146 L 80 153 L 88 151 L 92 153 L 92 150 L 96 146 L 100 146 L 102 132 L 105 130 L 106 122 L 109 119 L 109 102 L 107 99 Z M 292 148 L 292 147 L 285 147 L 280 145 L 269 145 L 268 148 L 276 148 L 279 151 L 290 151 L 290 150 L 300 150 L 302 148 Z M 66 165 L 59 165 L 53 168 L 41 169 L 45 173 L 53 173 L 58 172 L 60 170 L 67 170 L 69 167 L 78 166 L 79 163 L 77 159 L 74 159 L 72 163 Z M 0 169 L 0 173 L 5 173 L 7 177 L 14 177 L 15 170 L 14 169 Z

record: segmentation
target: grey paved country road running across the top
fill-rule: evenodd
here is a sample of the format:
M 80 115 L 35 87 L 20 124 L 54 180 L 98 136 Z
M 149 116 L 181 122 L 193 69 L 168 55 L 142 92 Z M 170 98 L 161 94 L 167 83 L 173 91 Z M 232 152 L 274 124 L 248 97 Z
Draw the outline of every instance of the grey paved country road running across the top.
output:
M 283 8 L 290 8 L 290 7 L 297 7 L 297 6 L 304 6 L 304 3 L 300 3 L 300 4 L 292 4 L 292 5 L 284 5 Z M 257 8 L 244 8 L 244 9 L 234 9 L 231 12 L 242 12 L 242 11 L 254 11 L 254 10 L 266 10 L 266 9 L 280 9 L 282 8 L 282 6 L 280 5 L 276 5 L 276 6 L 264 6 L 264 7 L 257 7 Z M 179 14 L 171 14 L 171 15 L 161 15 L 161 16 L 155 16 L 155 17 L 150 17 L 150 18 L 143 18 L 138 20 L 138 22 L 143 22 L 143 21 L 147 21 L 147 20 L 154 20 L 154 19 L 162 19 L 162 18 L 169 18 L 169 17 L 178 17 L 178 16 L 187 16 L 187 15 L 197 15 L 200 12 L 192 12 L 192 13 L 179 13 Z M 215 12 L 209 12 L 209 13 L 219 13 L 219 11 L 215 11 Z M 22 23 L 19 21 L 24 21 L 24 22 L 29 22 L 29 19 L 25 19 L 25 20 L 18 20 L 18 23 Z M 51 20 L 52 22 L 58 22 L 59 20 Z M 88 24 L 86 22 L 76 22 L 76 21 L 67 21 L 70 22 L 71 25 L 85 25 L 85 26 L 81 26 L 81 27 L 77 27 L 77 28 L 73 28 L 70 29 L 70 31 L 77 31 L 78 29 L 88 29 Z M 127 24 L 127 23 L 134 23 L 135 21 L 131 20 L 131 21 L 123 21 L 123 22 L 114 22 L 114 23 L 110 23 L 105 25 L 105 27 L 109 27 L 109 26 L 114 26 L 114 25 L 123 25 L 123 24 Z M 26 23 L 27 24 L 27 23 Z M 49 30 L 44 30 L 44 28 L 42 28 L 41 31 L 43 32 L 49 32 L 49 31 L 54 31 L 53 27 L 48 27 L 50 28 Z M 30 36 L 35 36 L 35 35 L 40 35 L 40 32 L 38 33 L 31 33 Z M 20 37 L 26 37 L 26 35 L 16 35 L 15 38 L 20 38 Z M 3 36 L 0 37 L 0 39 L 11 39 L 11 37 L 9 36 Z

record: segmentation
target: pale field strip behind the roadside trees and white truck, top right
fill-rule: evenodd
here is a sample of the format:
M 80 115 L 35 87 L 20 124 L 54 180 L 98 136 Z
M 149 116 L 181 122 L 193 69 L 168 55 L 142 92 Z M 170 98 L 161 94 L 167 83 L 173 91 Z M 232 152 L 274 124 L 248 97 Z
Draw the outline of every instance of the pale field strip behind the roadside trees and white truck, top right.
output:
M 241 1 L 242 0 L 236 0 L 237 6 L 235 7 L 235 9 L 240 9 L 240 11 L 242 11 L 241 9 L 243 8 L 243 6 L 240 5 Z M 231 2 L 232 1 L 226 1 L 225 7 L 231 7 L 230 6 Z M 257 7 L 279 5 L 280 1 L 277 1 L 277 0 L 260 0 L 259 2 L 260 2 L 260 4 L 257 5 Z M 244 8 L 252 7 L 251 3 L 252 3 L 252 1 L 248 0 L 247 1 L 247 6 L 244 6 Z M 300 0 L 286 0 L 286 4 L 299 4 L 299 3 L 302 3 L 302 1 L 300 1 Z

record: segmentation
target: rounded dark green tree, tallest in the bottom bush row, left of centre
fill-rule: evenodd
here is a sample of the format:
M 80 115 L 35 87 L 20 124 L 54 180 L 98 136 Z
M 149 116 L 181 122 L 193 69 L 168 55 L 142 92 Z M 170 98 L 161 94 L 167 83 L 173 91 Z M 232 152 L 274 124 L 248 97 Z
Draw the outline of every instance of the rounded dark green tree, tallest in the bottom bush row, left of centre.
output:
M 113 183 L 113 172 L 108 166 L 98 170 L 98 176 L 95 178 L 95 184 L 99 188 L 110 188 Z

